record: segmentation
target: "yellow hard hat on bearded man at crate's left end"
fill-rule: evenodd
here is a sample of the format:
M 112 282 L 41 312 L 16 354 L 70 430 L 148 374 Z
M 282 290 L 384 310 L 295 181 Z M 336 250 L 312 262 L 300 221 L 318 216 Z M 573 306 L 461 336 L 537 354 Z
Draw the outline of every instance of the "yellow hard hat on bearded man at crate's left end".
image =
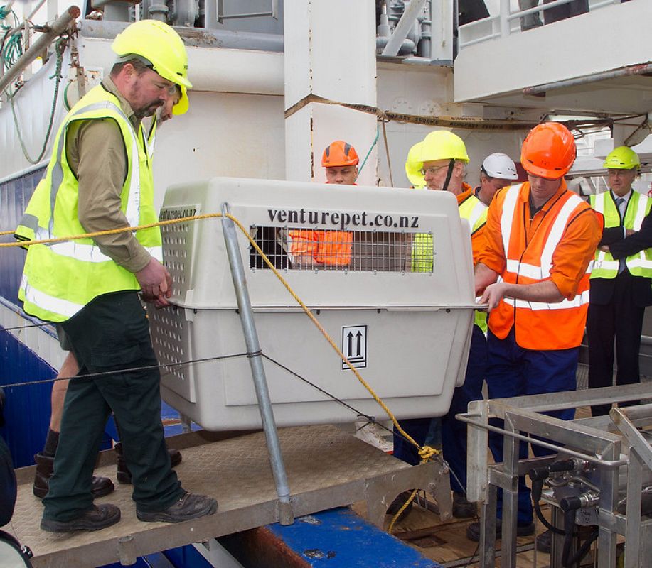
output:
M 157 20 L 141 20 L 124 28 L 111 45 L 119 57 L 139 55 L 151 62 L 152 70 L 181 88 L 181 99 L 174 105 L 173 114 L 188 110 L 186 89 L 188 81 L 188 53 L 183 40 L 171 26 Z

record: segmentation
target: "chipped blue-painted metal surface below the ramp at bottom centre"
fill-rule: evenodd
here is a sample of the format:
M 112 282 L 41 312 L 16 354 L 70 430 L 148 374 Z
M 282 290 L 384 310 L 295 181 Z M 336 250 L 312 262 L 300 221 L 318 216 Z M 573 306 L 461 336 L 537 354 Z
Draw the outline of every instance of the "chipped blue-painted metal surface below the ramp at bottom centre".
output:
M 441 568 L 434 560 L 371 525 L 348 508 L 336 508 L 268 525 L 307 566 L 328 568 Z

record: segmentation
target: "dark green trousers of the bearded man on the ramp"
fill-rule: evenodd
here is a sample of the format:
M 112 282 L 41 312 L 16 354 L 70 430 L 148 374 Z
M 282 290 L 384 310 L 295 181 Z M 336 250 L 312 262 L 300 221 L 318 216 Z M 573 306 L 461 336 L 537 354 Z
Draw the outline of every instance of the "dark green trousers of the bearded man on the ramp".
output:
M 137 293 L 96 297 L 62 324 L 80 366 L 65 395 L 61 433 L 43 518 L 72 520 L 92 508 L 91 480 L 109 413 L 120 428 L 138 510 L 164 510 L 183 490 L 170 468 L 161 425 L 158 368 L 149 322 Z

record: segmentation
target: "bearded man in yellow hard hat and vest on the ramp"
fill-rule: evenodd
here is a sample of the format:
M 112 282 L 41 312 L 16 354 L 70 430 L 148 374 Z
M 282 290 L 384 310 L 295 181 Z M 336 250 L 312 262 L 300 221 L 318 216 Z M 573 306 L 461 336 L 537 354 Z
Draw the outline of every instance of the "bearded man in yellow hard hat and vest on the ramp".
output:
M 188 55 L 170 26 L 133 23 L 115 38 L 109 77 L 60 126 L 18 239 L 56 239 L 156 222 L 149 137 L 141 119 L 159 107 L 188 109 Z M 149 138 L 149 139 L 148 139 Z M 54 475 L 43 499 L 48 532 L 98 530 L 120 519 L 95 506 L 92 470 L 109 413 L 119 423 L 139 520 L 178 522 L 215 513 L 217 501 L 181 488 L 161 425 L 160 374 L 139 299 L 168 305 L 158 228 L 28 249 L 18 296 L 24 310 L 65 332 L 80 374 L 68 386 Z M 127 369 L 139 369 L 127 371 Z M 94 373 L 102 373 L 93 377 Z

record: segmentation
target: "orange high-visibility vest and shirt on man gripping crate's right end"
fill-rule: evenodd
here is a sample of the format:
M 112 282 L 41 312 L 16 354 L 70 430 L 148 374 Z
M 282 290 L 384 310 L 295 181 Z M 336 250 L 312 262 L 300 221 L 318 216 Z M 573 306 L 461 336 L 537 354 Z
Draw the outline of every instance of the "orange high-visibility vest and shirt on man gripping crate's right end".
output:
M 530 184 L 505 187 L 489 207 L 487 249 L 479 260 L 496 271 L 498 282 L 533 284 L 551 280 L 561 302 L 528 302 L 505 297 L 489 315 L 500 339 L 515 327 L 525 349 L 547 351 L 579 346 L 589 305 L 592 258 L 602 235 L 589 204 L 562 182 L 560 190 L 530 219 Z

